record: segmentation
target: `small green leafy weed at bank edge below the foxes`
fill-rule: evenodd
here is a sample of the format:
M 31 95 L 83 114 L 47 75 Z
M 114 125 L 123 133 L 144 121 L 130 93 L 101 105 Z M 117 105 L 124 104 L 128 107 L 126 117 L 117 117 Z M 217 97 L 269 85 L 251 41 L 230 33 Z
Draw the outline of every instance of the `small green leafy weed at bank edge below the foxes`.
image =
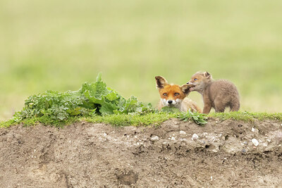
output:
M 207 124 L 207 115 L 204 113 L 192 112 L 190 109 L 187 113 L 180 113 L 178 118 L 183 121 L 194 120 L 198 125 Z

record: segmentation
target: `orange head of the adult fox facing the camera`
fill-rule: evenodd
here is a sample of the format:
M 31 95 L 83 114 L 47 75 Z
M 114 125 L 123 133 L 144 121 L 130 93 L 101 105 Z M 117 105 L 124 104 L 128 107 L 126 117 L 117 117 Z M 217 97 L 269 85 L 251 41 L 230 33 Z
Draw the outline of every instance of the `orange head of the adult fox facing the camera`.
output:
M 190 93 L 190 87 L 188 84 L 179 86 L 177 84 L 168 84 L 166 79 L 161 76 L 154 77 L 157 82 L 157 89 L 159 89 L 159 95 L 164 106 L 178 106 L 181 104 L 185 96 Z

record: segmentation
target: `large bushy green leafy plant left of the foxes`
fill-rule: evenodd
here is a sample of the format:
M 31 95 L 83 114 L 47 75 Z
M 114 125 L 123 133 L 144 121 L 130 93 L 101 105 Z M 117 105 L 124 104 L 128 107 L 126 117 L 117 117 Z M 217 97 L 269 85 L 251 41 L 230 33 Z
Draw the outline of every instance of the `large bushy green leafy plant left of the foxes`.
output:
M 79 116 L 145 114 L 156 111 L 152 104 L 143 104 L 135 96 L 125 99 L 114 89 L 106 87 L 99 73 L 96 82 L 85 82 L 78 91 L 47 91 L 28 97 L 23 110 L 13 116 L 13 122 L 36 119 L 41 123 L 58 125 Z

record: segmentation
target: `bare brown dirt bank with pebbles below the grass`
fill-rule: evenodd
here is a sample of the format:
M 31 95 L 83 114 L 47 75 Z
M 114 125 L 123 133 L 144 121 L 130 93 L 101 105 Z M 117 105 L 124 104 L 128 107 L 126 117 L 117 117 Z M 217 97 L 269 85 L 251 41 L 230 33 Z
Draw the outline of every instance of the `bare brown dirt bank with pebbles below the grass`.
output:
M 0 187 L 278 187 L 281 144 L 275 121 L 17 125 L 0 129 Z

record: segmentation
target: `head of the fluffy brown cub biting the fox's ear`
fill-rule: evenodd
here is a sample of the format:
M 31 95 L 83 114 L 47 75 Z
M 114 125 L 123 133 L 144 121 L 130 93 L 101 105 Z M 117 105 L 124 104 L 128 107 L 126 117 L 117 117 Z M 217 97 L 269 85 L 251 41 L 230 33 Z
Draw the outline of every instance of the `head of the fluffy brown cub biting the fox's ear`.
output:
M 190 91 L 202 92 L 207 83 L 212 81 L 212 75 L 208 72 L 195 73 L 187 84 L 190 86 Z

